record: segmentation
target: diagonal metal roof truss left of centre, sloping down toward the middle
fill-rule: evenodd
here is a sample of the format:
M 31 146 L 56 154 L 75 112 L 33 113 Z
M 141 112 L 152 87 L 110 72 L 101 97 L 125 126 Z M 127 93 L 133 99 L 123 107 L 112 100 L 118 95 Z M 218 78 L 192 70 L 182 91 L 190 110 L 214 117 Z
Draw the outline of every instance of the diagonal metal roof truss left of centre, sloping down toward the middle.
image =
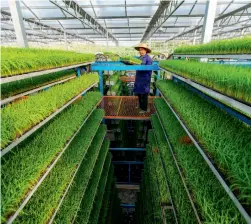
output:
M 92 18 L 84 9 L 82 9 L 76 2 L 73 0 L 71 1 L 63 1 L 64 7 L 59 5 L 56 0 L 50 0 L 51 3 L 54 5 L 58 6 L 60 9 L 64 10 L 71 16 L 75 17 L 78 19 L 80 22 L 86 24 L 93 30 L 97 31 L 104 37 L 108 35 L 108 38 L 110 38 L 112 41 L 118 45 L 118 40 L 103 26 L 101 26 L 94 18 Z M 72 13 L 69 9 L 73 10 L 74 13 Z M 78 16 L 80 15 L 80 16 Z

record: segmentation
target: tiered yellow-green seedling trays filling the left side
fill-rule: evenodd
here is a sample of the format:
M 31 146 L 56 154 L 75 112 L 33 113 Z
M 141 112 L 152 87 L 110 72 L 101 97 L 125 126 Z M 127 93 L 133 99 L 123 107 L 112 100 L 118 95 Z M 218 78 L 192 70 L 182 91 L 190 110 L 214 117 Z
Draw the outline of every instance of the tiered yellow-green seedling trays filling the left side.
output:
M 39 60 L 49 58 L 40 55 Z M 27 91 L 52 80 L 53 74 L 13 86 Z M 2 108 L 2 223 L 98 223 L 113 168 L 101 124 L 104 111 L 96 109 L 102 96 L 87 92 L 97 82 L 97 74 L 85 74 Z

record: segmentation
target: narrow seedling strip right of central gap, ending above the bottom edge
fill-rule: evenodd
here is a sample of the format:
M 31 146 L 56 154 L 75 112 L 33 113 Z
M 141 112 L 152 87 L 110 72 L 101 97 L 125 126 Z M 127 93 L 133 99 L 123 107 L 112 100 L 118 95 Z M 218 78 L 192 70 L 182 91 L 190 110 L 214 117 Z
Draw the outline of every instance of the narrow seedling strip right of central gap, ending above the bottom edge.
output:
M 161 163 L 161 158 L 159 155 L 158 146 L 154 139 L 153 130 L 148 131 L 148 141 L 149 141 L 149 148 L 152 153 L 152 159 L 154 162 L 152 166 L 155 167 L 155 173 L 157 177 L 157 183 L 158 183 L 158 188 L 159 188 L 159 193 L 160 193 L 160 204 L 163 206 L 168 205 L 170 204 L 170 195 L 167 189 L 165 171 Z M 150 152 L 148 154 L 150 154 Z

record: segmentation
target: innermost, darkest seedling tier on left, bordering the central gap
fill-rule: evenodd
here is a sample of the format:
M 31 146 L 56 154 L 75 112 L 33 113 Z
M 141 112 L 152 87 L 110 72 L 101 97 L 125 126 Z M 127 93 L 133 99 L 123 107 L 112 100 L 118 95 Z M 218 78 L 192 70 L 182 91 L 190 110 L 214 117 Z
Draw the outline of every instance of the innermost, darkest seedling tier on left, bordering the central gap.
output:
M 99 218 L 98 218 L 98 223 L 99 224 L 106 223 L 108 210 L 109 210 L 109 207 L 111 205 L 111 200 L 110 199 L 111 199 L 111 197 L 112 197 L 112 195 L 113 195 L 113 193 L 114 193 L 114 191 L 116 189 L 113 172 L 108 177 L 109 178 L 109 180 L 108 180 L 109 184 L 107 184 L 107 186 L 105 188 L 105 195 L 104 195 L 104 198 L 103 198 L 103 201 L 102 201 L 102 207 L 101 207 L 100 215 L 99 215 Z

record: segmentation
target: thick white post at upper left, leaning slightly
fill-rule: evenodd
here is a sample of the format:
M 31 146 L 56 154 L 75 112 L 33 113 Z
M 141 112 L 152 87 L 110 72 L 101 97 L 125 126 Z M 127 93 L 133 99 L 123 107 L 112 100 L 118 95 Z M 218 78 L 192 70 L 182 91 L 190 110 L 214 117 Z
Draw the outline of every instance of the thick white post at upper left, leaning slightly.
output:
M 20 47 L 29 47 L 19 0 L 9 0 L 9 6 L 17 43 Z

